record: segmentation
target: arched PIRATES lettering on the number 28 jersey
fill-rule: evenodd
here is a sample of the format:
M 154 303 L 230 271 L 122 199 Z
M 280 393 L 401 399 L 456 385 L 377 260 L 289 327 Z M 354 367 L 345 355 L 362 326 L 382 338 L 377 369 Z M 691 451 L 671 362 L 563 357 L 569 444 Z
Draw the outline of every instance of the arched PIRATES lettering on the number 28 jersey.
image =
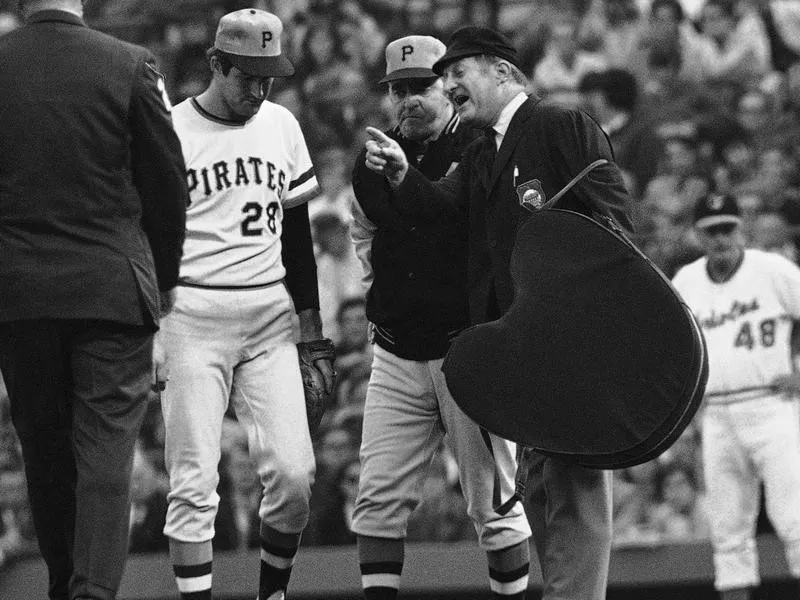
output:
M 286 189 L 286 172 L 257 156 L 220 160 L 205 167 L 187 169 L 186 180 L 190 194 L 198 190 L 206 196 L 233 186 L 266 184 L 278 198 L 282 198 Z

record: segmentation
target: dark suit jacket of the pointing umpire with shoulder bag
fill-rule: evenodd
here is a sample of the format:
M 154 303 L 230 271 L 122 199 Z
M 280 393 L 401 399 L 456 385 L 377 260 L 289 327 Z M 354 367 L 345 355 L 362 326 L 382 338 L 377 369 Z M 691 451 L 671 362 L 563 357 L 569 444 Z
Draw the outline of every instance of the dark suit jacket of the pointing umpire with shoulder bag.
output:
M 399 210 L 431 218 L 469 213 L 467 286 L 473 324 L 499 317 L 513 300 L 511 252 L 517 229 L 530 215 L 520 206 L 516 186 L 536 179 L 549 199 L 594 160 L 613 160 L 607 137 L 591 117 L 535 97 L 514 114 L 493 165 L 487 158 L 488 144 L 494 140 L 479 138 L 466 149 L 458 168 L 436 183 L 410 168 L 394 195 Z M 610 215 L 630 229 L 628 200 L 622 175 L 612 162 L 591 171 L 557 208 Z

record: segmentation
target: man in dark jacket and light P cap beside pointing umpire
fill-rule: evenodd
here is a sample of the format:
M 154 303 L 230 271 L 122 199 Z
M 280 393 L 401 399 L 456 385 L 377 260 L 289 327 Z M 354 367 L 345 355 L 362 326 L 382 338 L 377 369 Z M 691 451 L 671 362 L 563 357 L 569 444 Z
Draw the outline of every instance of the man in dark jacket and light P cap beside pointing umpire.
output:
M 461 126 L 431 70 L 439 40 L 412 35 L 386 48 L 389 99 L 397 125 L 386 132 L 427 177 L 452 170 L 480 131 Z M 531 535 L 514 493 L 516 446 L 482 432 L 455 404 L 441 367 L 450 341 L 469 323 L 467 223 L 400 216 L 382 175 L 364 152 L 353 171 L 351 235 L 369 286 L 367 315 L 375 351 L 364 409 L 361 477 L 353 511 L 364 595 L 397 597 L 408 518 L 420 501 L 431 459 L 447 433 L 467 510 L 489 563 L 495 598 L 524 598 Z M 378 190 L 384 190 L 380 193 Z

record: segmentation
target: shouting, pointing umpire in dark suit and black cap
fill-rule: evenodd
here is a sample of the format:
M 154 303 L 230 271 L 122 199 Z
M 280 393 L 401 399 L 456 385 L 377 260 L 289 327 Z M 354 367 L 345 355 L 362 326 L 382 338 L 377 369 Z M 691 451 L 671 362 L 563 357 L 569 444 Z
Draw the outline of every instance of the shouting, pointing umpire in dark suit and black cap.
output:
M 511 251 L 529 215 L 521 201 L 541 204 L 593 161 L 612 159 L 612 152 L 588 115 L 526 94 L 516 50 L 493 30 L 455 32 L 434 71 L 443 75 L 462 122 L 484 128 L 486 135 L 436 183 L 409 166 L 397 142 L 373 128 L 368 129 L 373 139 L 366 144 L 366 164 L 387 177 L 401 212 L 438 219 L 468 213 L 469 312 L 472 323 L 479 324 L 499 318 L 513 300 Z M 558 206 L 607 215 L 629 228 L 627 202 L 620 171 L 608 163 L 591 171 Z M 542 567 L 543 598 L 604 598 L 611 546 L 610 473 L 536 455 L 530 476 L 528 516 Z

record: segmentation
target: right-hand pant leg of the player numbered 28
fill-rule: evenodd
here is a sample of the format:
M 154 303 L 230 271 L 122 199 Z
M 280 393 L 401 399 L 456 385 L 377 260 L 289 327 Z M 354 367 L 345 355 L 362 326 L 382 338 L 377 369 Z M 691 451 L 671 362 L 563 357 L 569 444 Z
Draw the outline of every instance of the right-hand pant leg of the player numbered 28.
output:
M 250 298 L 254 329 L 234 373 L 231 401 L 264 488 L 262 523 L 300 533 L 308 522 L 315 462 L 292 304 L 282 285 L 251 293 L 258 294 Z

